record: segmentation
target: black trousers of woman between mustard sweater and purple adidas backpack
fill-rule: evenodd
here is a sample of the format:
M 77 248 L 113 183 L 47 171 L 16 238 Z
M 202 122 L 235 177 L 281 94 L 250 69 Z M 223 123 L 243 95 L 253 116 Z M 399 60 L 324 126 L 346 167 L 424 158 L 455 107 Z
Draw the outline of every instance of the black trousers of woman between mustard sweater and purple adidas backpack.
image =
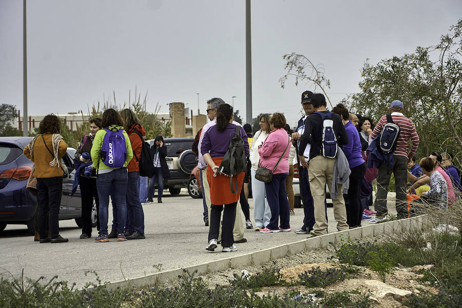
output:
M 96 178 L 80 177 L 80 194 L 82 195 L 82 233 L 91 235 L 91 210 L 93 208 L 93 199 L 97 205 L 97 211 L 100 208 L 100 199 L 96 185 Z M 100 230 L 100 219 L 97 216 L 97 227 Z

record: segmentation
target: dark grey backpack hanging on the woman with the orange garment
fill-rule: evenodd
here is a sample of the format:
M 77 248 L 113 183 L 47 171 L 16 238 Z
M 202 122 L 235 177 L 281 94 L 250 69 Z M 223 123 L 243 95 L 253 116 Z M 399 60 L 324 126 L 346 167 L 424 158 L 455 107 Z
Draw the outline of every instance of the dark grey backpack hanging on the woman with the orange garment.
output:
M 238 187 L 237 176 L 247 169 L 244 140 L 241 138 L 240 130 L 241 127 L 236 125 L 236 130 L 233 133 L 235 136 L 229 141 L 228 149 L 218 167 L 218 172 L 230 177 L 229 185 L 233 194 L 237 194 L 240 188 Z

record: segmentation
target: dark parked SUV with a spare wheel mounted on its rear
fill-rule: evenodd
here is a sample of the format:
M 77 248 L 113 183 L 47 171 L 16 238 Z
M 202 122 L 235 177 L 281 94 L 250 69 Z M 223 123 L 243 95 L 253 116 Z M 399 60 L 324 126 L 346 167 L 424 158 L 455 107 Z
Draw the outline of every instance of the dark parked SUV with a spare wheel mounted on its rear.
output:
M 170 170 L 170 178 L 164 181 L 164 189 L 168 189 L 170 195 L 178 195 L 181 188 L 187 187 L 191 170 L 197 165 L 196 154 L 191 150 L 193 141 L 192 138 L 164 139 Z M 150 146 L 154 144 L 154 140 L 149 141 Z

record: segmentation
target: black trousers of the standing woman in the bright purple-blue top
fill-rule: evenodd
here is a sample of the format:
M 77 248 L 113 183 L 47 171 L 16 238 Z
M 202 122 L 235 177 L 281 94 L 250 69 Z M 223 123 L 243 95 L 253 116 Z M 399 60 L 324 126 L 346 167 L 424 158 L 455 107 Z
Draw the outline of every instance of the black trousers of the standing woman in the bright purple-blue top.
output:
M 347 207 L 347 223 L 350 227 L 359 226 L 362 219 L 362 204 L 361 204 L 361 181 L 365 174 L 365 163 L 351 168 L 350 186 L 348 187 L 348 194 L 345 200 L 345 207 Z

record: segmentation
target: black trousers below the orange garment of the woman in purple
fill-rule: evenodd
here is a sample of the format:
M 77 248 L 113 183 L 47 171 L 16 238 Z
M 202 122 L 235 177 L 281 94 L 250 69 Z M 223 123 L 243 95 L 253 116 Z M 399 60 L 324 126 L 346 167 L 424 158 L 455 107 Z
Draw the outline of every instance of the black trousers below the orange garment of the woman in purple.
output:
M 223 211 L 223 221 L 221 224 L 221 245 L 223 247 L 232 246 L 234 243 L 233 229 L 234 221 L 236 220 L 236 205 L 237 202 L 210 206 L 210 229 L 208 230 L 208 241 L 218 239 L 220 231 L 221 211 Z

